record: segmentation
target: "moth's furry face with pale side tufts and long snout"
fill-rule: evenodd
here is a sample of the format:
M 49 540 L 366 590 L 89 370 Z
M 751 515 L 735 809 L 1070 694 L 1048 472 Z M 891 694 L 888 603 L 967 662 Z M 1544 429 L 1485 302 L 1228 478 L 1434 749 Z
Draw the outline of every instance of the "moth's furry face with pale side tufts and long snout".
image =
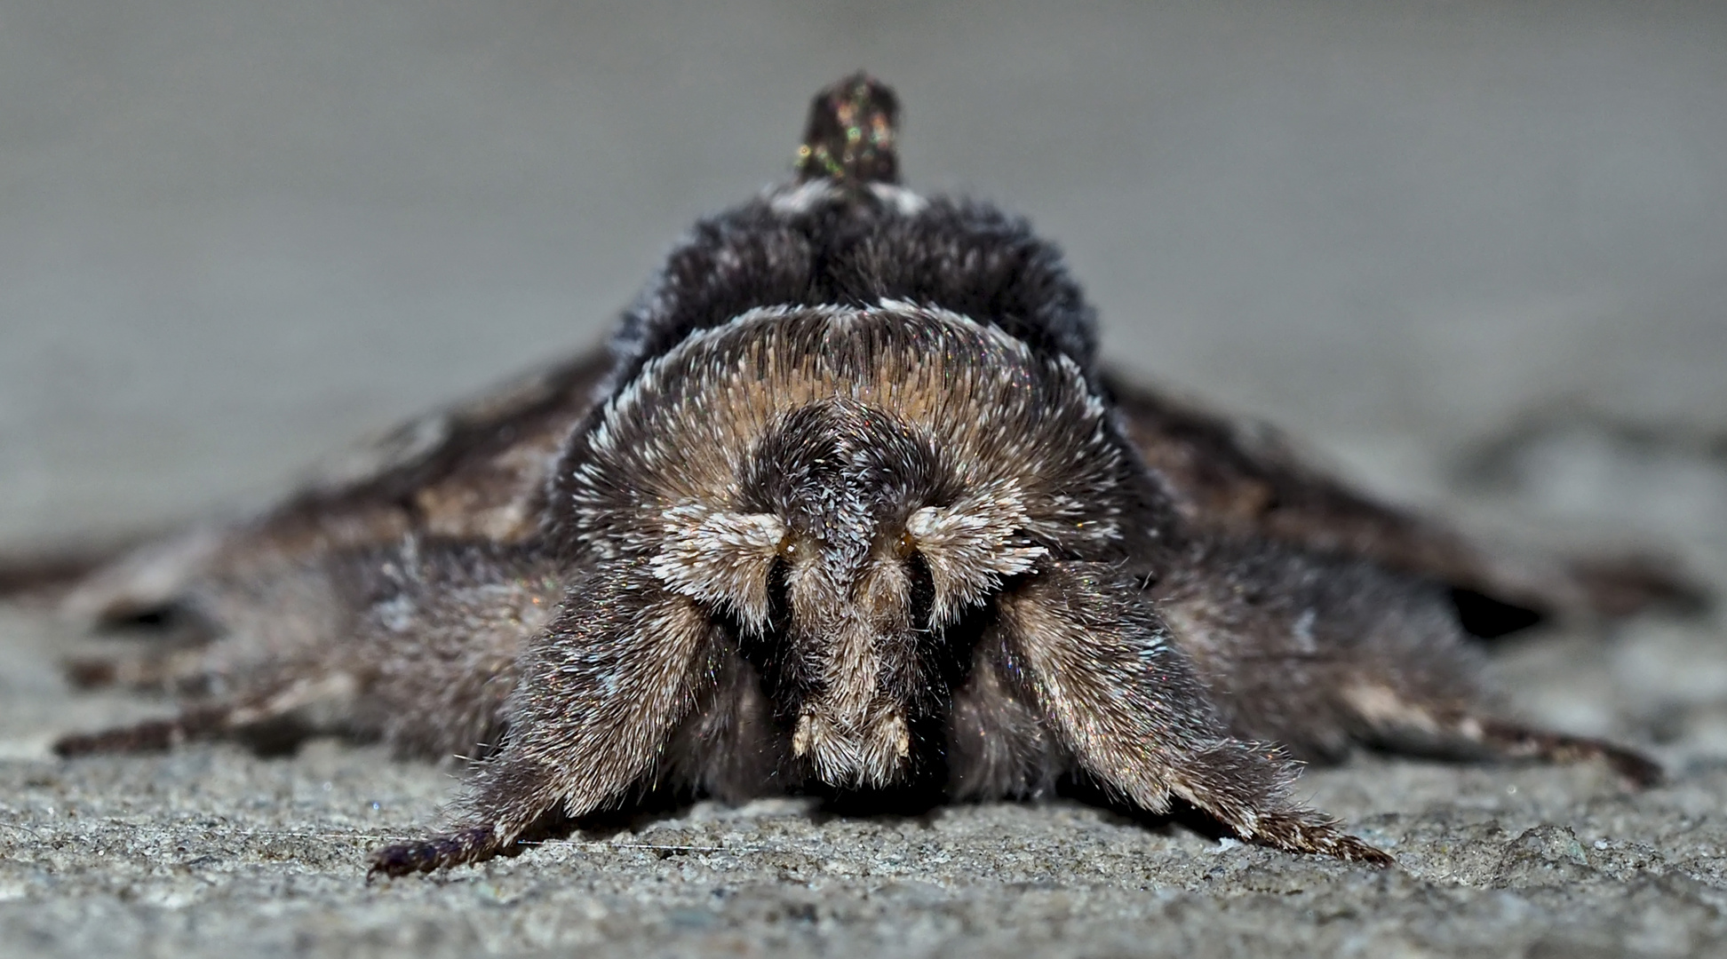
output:
M 668 516 L 655 574 L 736 624 L 819 778 L 891 783 L 948 630 L 1045 552 L 1019 492 L 969 488 L 915 428 L 836 397 L 760 436 L 737 502 Z

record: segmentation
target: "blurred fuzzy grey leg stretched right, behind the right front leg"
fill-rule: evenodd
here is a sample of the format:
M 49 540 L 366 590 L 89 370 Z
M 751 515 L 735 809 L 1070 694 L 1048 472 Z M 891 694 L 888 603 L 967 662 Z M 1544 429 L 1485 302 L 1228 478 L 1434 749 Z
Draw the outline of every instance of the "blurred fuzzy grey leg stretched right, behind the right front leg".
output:
M 1340 761 L 1354 743 L 1449 759 L 1603 759 L 1635 783 L 1635 752 L 1497 719 L 1482 655 L 1444 593 L 1361 561 L 1212 538 L 1155 586 L 1176 642 L 1243 738 Z

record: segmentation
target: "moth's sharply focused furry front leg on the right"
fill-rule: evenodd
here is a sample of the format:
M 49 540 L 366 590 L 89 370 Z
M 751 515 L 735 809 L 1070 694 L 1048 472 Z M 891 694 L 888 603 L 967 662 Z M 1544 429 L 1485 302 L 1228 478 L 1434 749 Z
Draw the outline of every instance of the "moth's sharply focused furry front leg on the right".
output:
M 1136 578 L 1053 562 L 998 600 L 1007 676 L 1081 769 L 1148 812 L 1180 797 L 1238 837 L 1292 852 L 1390 864 L 1290 797 L 1295 764 L 1231 738 Z

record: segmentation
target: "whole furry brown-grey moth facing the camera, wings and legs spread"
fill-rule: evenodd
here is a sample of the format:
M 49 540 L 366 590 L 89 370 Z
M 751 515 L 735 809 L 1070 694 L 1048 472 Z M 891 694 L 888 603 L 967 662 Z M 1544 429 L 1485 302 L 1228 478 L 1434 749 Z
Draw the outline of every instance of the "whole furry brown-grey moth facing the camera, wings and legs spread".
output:
M 173 628 L 71 676 L 181 707 L 57 750 L 466 757 L 447 828 L 371 854 L 389 876 L 649 797 L 1072 783 L 1385 864 L 1292 795 L 1299 762 L 1660 774 L 1502 712 L 1468 633 L 1622 616 L 1682 592 L 1667 573 L 1480 547 L 1128 383 L 1059 252 L 905 188 L 896 138 L 895 93 L 841 79 L 794 178 L 698 223 L 610 352 L 92 571 L 76 614 Z

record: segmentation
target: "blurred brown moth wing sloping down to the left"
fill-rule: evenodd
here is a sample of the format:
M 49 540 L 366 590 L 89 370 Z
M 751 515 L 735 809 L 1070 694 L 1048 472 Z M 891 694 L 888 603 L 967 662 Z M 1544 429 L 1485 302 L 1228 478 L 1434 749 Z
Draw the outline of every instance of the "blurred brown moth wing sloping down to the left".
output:
M 546 478 L 599 398 L 611 357 L 591 350 L 414 417 L 321 464 L 278 505 L 126 550 L 66 599 L 71 616 L 133 619 L 211 569 L 311 561 L 406 535 L 513 545 L 539 528 Z

